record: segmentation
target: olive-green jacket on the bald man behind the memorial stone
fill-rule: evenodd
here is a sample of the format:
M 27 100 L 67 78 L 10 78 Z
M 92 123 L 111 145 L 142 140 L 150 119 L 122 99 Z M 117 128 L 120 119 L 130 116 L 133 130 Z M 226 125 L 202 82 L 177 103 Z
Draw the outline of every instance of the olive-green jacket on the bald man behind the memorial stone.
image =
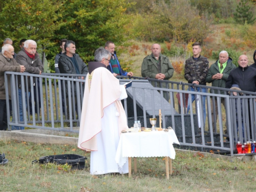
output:
M 170 79 L 174 74 L 174 68 L 172 63 L 168 57 L 160 54 L 160 61 L 161 61 L 161 73 L 165 75 L 164 80 Z M 142 77 L 150 77 L 155 79 L 156 74 L 158 74 L 157 68 L 157 61 L 153 57 L 153 54 L 146 56 L 143 59 L 142 66 L 141 66 L 141 76 Z

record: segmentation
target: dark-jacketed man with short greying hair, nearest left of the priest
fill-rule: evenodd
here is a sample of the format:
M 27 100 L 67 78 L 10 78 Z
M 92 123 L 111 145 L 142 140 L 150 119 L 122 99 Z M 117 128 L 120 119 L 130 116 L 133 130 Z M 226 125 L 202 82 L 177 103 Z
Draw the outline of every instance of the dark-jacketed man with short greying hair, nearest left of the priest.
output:
M 66 74 L 87 74 L 88 68 L 86 63 L 82 61 L 82 59 L 79 57 L 78 54 L 76 54 L 76 46 L 75 42 L 72 40 L 68 40 L 65 44 L 65 51 L 66 53 L 63 53 L 59 57 L 58 67 L 60 73 L 66 73 Z M 84 77 L 81 77 L 84 79 Z M 76 88 L 74 84 L 74 95 L 76 96 Z M 71 96 L 72 97 L 72 96 Z M 73 98 L 76 103 L 76 99 Z M 72 100 L 72 98 L 71 98 Z M 68 83 L 66 82 L 66 101 L 67 101 L 67 113 L 69 116 L 69 98 L 68 98 Z M 73 103 L 73 102 L 71 102 Z

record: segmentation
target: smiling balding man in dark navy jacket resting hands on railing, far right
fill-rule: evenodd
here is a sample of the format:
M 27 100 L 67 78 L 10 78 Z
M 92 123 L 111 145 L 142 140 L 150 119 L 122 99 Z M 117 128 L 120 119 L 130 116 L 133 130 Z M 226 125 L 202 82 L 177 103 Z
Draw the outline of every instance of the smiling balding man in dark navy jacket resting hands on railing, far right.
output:
M 232 84 L 238 84 L 242 91 L 256 92 L 256 69 L 248 66 L 248 57 L 246 55 L 241 55 L 238 59 L 238 63 L 238 68 L 229 73 L 226 88 L 230 89 Z M 248 99 L 249 128 L 251 129 L 250 108 L 251 106 Z

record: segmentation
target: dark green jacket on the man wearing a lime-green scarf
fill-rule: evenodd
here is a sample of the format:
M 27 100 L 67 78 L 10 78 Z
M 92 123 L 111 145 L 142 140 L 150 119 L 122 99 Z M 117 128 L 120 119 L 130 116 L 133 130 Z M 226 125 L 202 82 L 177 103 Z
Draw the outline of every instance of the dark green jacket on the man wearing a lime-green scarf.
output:
M 221 79 L 212 79 L 212 75 L 215 75 L 217 73 L 220 73 L 220 69 L 218 66 L 218 61 L 217 60 L 215 63 L 213 63 L 210 66 L 210 69 L 208 71 L 208 74 L 206 76 L 206 82 L 211 83 L 211 87 L 218 87 L 218 88 L 225 88 L 226 87 L 226 80 L 228 78 L 228 75 L 230 73 L 231 70 L 236 69 L 237 67 L 232 63 L 232 59 L 229 57 L 229 59 L 227 60 L 227 66 L 225 67 L 225 69 L 223 70 L 223 76 Z M 210 90 L 211 93 L 212 90 Z M 218 91 L 215 90 L 215 93 L 218 94 Z M 221 91 L 221 94 L 224 94 L 223 91 Z

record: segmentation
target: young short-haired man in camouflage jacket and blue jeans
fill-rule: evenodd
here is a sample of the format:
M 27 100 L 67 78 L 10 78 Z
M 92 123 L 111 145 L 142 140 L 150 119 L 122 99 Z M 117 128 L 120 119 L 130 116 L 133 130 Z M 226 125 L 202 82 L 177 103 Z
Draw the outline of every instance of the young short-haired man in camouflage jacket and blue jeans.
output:
M 201 44 L 200 42 L 195 42 L 193 45 L 193 56 L 188 58 L 185 62 L 185 79 L 188 81 L 188 83 L 192 84 L 200 84 L 203 86 L 206 86 L 206 75 L 209 70 L 209 61 L 206 57 L 203 57 L 200 55 L 201 52 Z M 197 88 L 195 90 L 195 87 L 189 87 L 189 91 L 198 91 L 206 93 L 205 88 Z M 199 95 L 200 96 L 200 95 Z M 195 95 L 191 94 L 192 102 L 195 100 Z M 202 103 L 203 103 L 203 117 L 204 117 L 204 124 L 206 119 L 206 110 L 205 110 L 205 99 L 206 96 L 202 96 Z M 187 106 L 187 113 L 190 110 L 189 102 Z

